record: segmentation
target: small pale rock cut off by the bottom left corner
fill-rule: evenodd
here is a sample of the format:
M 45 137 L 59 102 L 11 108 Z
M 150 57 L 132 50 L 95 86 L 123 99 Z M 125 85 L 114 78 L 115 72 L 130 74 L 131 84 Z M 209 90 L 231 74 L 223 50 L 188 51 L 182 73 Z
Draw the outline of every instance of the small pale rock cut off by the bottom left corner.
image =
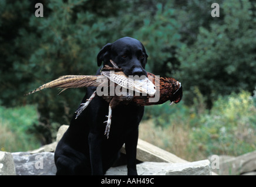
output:
M 11 153 L 0 151 L 0 175 L 16 175 Z

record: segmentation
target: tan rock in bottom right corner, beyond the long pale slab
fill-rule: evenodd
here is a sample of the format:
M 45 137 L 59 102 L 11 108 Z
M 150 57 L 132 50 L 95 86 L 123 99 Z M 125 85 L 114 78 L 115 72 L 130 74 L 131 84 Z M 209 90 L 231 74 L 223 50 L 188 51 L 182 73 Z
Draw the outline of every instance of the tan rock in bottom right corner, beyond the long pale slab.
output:
M 219 175 L 241 175 L 256 171 L 256 151 L 238 157 L 221 155 L 218 156 L 218 162 L 219 167 L 213 171 Z

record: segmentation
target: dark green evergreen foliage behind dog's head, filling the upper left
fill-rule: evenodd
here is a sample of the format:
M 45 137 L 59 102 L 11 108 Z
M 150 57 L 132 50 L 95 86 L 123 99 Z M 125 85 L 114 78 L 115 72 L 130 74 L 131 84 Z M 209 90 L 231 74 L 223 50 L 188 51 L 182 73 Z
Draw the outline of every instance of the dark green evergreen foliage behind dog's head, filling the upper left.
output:
M 61 75 L 95 74 L 101 47 L 124 36 L 145 44 L 151 56 L 149 69 L 159 73 L 179 37 L 171 4 L 151 5 L 138 0 L 43 1 L 44 17 L 36 18 L 34 3 L 1 1 L 0 99 L 8 107 L 38 103 L 39 121 L 45 131 L 41 126 L 34 130 L 43 133 L 45 143 L 54 137 L 50 128 L 53 124 L 69 124 L 85 89 L 70 89 L 60 96 L 56 89 L 27 97 L 24 93 Z

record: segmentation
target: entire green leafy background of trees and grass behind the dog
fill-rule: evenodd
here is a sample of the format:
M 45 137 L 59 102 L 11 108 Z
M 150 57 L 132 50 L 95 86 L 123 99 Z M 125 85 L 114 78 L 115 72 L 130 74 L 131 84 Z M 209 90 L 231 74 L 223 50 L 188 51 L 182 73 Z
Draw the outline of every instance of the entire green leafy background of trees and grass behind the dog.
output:
M 95 74 L 99 50 L 124 36 L 146 47 L 147 71 L 183 84 L 178 105 L 146 107 L 141 138 L 187 160 L 255 150 L 256 4 L 215 2 L 220 18 L 210 0 L 0 1 L 1 150 L 52 142 L 86 89 L 23 94 L 61 75 Z

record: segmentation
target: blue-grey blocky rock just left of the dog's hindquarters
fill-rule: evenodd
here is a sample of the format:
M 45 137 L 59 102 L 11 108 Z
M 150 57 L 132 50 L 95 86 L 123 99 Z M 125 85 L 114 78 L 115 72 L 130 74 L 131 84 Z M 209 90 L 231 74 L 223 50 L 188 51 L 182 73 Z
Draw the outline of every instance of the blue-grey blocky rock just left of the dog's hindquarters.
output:
M 12 153 L 17 175 L 55 175 L 54 153 Z

